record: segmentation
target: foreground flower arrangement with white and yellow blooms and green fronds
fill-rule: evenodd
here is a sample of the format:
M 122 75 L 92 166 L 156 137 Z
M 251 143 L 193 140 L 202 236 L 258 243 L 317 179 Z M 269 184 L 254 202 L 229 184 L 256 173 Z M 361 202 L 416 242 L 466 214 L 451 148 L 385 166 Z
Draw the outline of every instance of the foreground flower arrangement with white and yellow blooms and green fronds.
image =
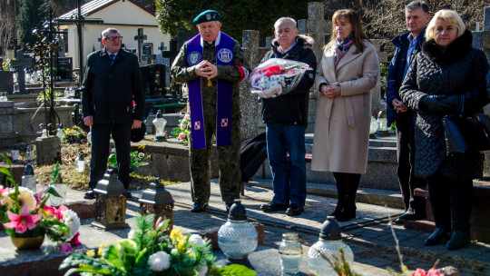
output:
M 73 253 L 60 265 L 65 276 L 75 272 L 82 275 L 236 275 L 254 276 L 256 273 L 245 266 L 231 264 L 218 267 L 213 264 L 211 241 L 197 234 L 183 235 L 180 230 L 166 234 L 169 220 L 159 219 L 153 224 L 154 214 L 135 218 L 136 226 L 127 239 L 115 244 L 102 244 L 98 251 Z

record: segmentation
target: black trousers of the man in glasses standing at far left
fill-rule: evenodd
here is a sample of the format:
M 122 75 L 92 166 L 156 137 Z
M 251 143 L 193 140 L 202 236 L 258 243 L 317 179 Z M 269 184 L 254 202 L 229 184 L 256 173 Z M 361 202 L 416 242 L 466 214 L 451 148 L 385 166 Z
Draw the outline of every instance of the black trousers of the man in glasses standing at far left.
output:
M 119 179 L 124 188 L 129 188 L 129 168 L 131 163 L 131 123 L 94 123 L 92 125 L 92 158 L 90 160 L 90 189 L 95 188 L 97 182 L 103 179 L 107 170 L 109 158 L 110 139 L 116 148 Z

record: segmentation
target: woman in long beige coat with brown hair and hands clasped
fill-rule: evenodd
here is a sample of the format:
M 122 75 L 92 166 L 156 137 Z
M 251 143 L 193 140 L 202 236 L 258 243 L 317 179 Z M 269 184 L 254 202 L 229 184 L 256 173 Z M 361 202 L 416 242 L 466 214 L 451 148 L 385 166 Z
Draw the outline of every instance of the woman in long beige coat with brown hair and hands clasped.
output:
M 356 11 L 338 10 L 315 79 L 319 91 L 313 171 L 332 172 L 339 222 L 356 217 L 356 192 L 368 164 L 371 92 L 377 83 L 376 49 L 364 34 Z

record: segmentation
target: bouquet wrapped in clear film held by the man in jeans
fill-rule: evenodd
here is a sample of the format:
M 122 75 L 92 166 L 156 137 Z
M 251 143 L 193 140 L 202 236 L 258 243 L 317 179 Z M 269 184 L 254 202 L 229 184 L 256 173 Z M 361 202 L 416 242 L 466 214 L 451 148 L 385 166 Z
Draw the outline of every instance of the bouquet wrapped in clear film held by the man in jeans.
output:
M 250 73 L 251 93 L 263 98 L 288 94 L 308 70 L 312 70 L 309 64 L 271 58 Z

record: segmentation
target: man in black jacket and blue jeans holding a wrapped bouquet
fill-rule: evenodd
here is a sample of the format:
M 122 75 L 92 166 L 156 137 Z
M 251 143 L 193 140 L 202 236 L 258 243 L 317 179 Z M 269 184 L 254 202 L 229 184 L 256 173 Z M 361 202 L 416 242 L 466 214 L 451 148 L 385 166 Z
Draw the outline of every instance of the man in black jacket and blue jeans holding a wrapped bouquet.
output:
M 276 39 L 261 62 L 275 57 L 284 58 L 309 64 L 313 69 L 307 71 L 288 94 L 262 100 L 261 113 L 266 124 L 274 198 L 269 204 L 261 205 L 260 209 L 299 215 L 304 212 L 307 195 L 305 131 L 308 126 L 309 88 L 315 80 L 317 59 L 305 39 L 298 35 L 294 19 L 281 17 L 274 24 L 274 29 Z

